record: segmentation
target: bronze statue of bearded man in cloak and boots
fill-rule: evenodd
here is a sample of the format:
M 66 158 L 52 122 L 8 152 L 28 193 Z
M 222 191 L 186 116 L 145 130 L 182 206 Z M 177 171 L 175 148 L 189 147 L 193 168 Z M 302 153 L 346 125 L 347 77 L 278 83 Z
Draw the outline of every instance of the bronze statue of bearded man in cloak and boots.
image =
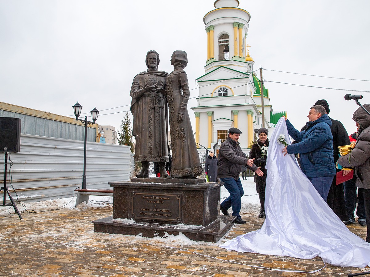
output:
M 137 178 L 149 177 L 149 161 L 159 163 L 161 177 L 167 177 L 167 72 L 158 71 L 159 55 L 151 50 L 145 58 L 148 71 L 135 76 L 131 86 L 131 113 L 134 116 L 135 161 L 141 161 Z

